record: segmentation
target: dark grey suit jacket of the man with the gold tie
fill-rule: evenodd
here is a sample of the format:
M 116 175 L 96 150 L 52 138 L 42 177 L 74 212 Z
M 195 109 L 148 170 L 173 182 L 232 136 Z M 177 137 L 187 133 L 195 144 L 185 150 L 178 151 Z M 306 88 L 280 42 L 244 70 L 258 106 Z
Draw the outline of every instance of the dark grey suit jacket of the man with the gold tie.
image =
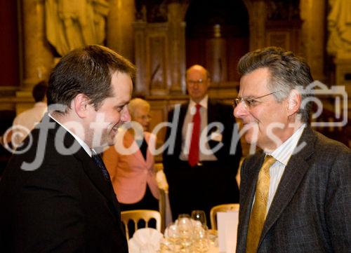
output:
M 351 252 L 351 151 L 305 128 L 275 193 L 258 253 Z M 246 251 L 251 206 L 264 153 L 241 166 L 237 253 Z

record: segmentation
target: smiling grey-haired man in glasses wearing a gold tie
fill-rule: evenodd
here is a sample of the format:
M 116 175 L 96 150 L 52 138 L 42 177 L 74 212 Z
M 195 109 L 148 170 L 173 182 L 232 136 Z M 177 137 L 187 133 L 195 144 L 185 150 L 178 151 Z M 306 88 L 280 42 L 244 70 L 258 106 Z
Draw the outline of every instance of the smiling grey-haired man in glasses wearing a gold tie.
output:
M 238 69 L 234 116 L 263 151 L 241 167 L 237 253 L 350 252 L 351 152 L 310 128 L 310 67 L 270 47 Z

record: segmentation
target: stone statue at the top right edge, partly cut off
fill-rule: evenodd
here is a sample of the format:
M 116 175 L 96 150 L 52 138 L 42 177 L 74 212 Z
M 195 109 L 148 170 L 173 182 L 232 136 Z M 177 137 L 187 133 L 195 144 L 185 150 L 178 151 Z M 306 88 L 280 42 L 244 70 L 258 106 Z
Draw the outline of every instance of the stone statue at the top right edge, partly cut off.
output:
M 338 58 L 351 58 L 351 1 L 329 0 L 328 53 Z

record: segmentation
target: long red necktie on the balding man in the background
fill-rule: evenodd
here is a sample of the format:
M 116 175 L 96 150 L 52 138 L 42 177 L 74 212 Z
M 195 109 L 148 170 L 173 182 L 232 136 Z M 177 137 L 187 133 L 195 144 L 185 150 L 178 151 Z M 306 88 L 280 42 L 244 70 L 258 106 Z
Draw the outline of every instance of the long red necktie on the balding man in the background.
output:
M 192 142 L 190 142 L 190 150 L 189 150 L 189 164 L 194 167 L 199 163 L 199 142 L 200 142 L 200 125 L 201 125 L 201 117 L 200 117 L 200 104 L 196 104 L 197 111 L 192 117 Z

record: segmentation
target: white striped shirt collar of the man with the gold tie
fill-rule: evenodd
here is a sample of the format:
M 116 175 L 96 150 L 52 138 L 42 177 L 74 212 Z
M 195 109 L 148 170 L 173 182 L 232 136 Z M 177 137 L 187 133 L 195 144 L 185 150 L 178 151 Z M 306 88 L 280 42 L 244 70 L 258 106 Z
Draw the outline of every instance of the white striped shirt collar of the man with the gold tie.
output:
M 306 124 L 303 124 L 296 130 L 296 132 L 286 139 L 285 142 L 282 143 L 277 149 L 275 149 L 272 153 L 267 153 L 273 156 L 279 163 L 282 163 L 286 166 L 293 155 L 293 151 L 295 150 L 296 146 L 298 145 L 298 140 L 300 139 L 301 135 L 303 134 L 303 130 L 305 129 Z

